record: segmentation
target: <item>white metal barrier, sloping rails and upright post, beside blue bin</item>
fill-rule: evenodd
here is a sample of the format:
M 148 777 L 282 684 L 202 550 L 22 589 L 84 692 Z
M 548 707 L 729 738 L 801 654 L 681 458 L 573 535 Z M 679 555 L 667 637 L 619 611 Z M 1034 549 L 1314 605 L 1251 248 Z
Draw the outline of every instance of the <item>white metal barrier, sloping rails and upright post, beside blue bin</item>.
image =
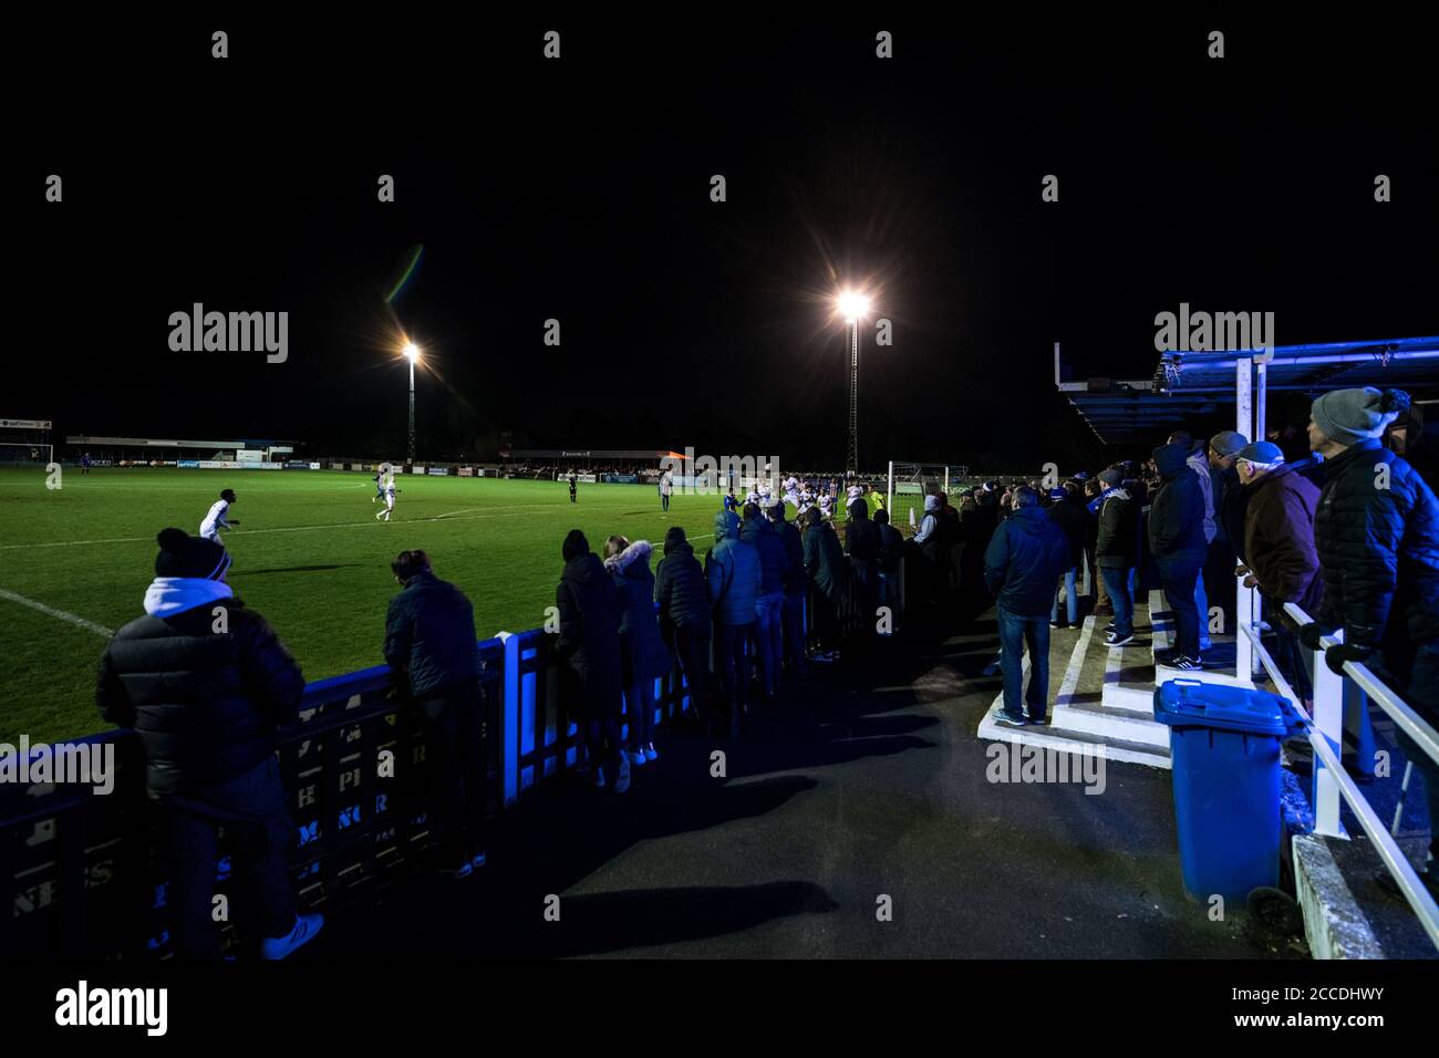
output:
M 1294 603 L 1285 603 L 1284 609 L 1299 626 L 1314 623 L 1314 619 Z M 1312 802 L 1315 833 L 1330 838 L 1348 836 L 1340 825 L 1340 799 L 1343 797 L 1350 809 L 1353 809 L 1360 826 L 1364 828 L 1364 833 L 1374 844 L 1376 851 L 1384 861 L 1384 867 L 1394 877 L 1400 891 L 1404 894 L 1404 900 L 1415 910 L 1429 939 L 1435 946 L 1439 946 L 1439 905 L 1435 904 L 1433 897 L 1429 895 L 1423 882 L 1419 881 L 1419 875 L 1409 865 L 1409 859 L 1340 761 L 1344 744 L 1344 678 L 1330 669 L 1324 662 L 1322 654 L 1314 655 L 1314 715 L 1311 717 L 1298 695 L 1295 695 L 1294 688 L 1284 678 L 1274 656 L 1265 649 L 1261 635 L 1255 630 L 1252 622 L 1240 620 L 1239 630 L 1248 643 L 1253 646 L 1255 656 L 1263 664 L 1275 687 L 1294 705 L 1308 733 L 1309 744 L 1314 747 Z M 1328 649 L 1343 642 L 1343 636 L 1324 636 L 1320 642 L 1324 649 Z M 1243 664 L 1243 659 L 1240 659 L 1240 664 Z M 1406 705 L 1366 665 L 1347 661 L 1344 662 L 1344 672 L 1425 753 L 1439 760 L 1439 733 L 1435 728 L 1426 724 L 1419 714 Z M 1429 825 L 1439 825 L 1439 820 L 1430 819 Z

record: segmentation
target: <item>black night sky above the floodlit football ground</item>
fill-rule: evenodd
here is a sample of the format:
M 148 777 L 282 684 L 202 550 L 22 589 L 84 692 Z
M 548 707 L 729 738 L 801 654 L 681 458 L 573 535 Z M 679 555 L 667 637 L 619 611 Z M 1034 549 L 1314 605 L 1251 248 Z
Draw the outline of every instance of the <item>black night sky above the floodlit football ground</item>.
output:
M 37 289 L 14 337 L 39 356 L 12 357 L 0 415 L 386 456 L 397 321 L 443 379 L 420 374 L 422 458 L 509 430 L 840 466 L 826 299 L 852 281 L 894 321 L 892 347 L 863 341 L 865 465 L 1020 469 L 1089 438 L 1055 394 L 1056 340 L 1073 377 L 1150 377 L 1154 315 L 1181 301 L 1274 311 L 1281 344 L 1439 333 L 1432 37 L 1403 16 L 360 10 L 17 35 L 36 75 L 13 255 Z M 1374 203 L 1376 173 L 1394 202 Z M 289 361 L 171 353 L 168 315 L 196 301 L 288 311 Z

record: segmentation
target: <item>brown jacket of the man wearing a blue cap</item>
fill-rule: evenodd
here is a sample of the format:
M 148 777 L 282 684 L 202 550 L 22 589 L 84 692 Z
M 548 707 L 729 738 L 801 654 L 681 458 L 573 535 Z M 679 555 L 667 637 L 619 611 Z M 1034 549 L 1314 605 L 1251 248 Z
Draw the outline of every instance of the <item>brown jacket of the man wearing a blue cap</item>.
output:
M 1314 550 L 1314 511 L 1320 489 L 1292 466 L 1281 466 L 1242 485 L 1243 553 L 1259 590 L 1279 603 L 1298 603 L 1314 616 L 1324 594 L 1320 556 Z

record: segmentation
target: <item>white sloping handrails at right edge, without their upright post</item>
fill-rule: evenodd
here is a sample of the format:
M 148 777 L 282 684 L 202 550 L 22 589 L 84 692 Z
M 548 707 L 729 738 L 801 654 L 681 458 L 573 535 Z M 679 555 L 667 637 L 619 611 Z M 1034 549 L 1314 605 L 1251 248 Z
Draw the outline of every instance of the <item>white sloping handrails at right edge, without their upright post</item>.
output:
M 1301 628 L 1304 625 L 1314 623 L 1312 618 L 1309 618 L 1309 615 L 1307 615 L 1295 603 L 1285 603 L 1284 609 Z M 1400 851 L 1399 844 L 1389 833 L 1389 828 L 1386 828 L 1383 820 L 1374 813 L 1374 809 L 1358 789 L 1358 785 L 1344 770 L 1343 763 L 1330 746 L 1330 738 L 1318 728 L 1314 718 L 1299 702 L 1294 688 L 1289 687 L 1288 681 L 1285 681 L 1281 675 L 1276 662 L 1263 646 L 1259 632 L 1245 622 L 1240 622 L 1239 630 L 1249 638 L 1250 643 L 1258 651 L 1259 659 L 1269 672 L 1269 677 L 1274 679 L 1275 687 L 1294 705 L 1295 713 L 1298 713 L 1299 720 L 1304 724 L 1309 744 L 1314 747 L 1315 756 L 1324 767 L 1330 770 L 1340 795 L 1358 818 L 1360 826 L 1364 828 L 1364 833 L 1368 835 L 1368 839 L 1374 844 L 1384 867 L 1394 877 L 1400 892 L 1403 892 L 1404 900 L 1409 901 L 1409 905 L 1417 915 L 1419 924 L 1423 926 L 1425 933 L 1429 934 L 1429 940 L 1435 944 L 1435 947 L 1439 947 L 1439 904 L 1435 903 L 1423 882 L 1419 881 L 1419 875 L 1415 872 L 1415 868 L 1410 867 L 1409 858 L 1404 856 L 1403 851 Z M 1337 645 L 1338 642 L 1340 641 L 1334 636 L 1324 636 L 1324 639 L 1321 639 L 1325 649 Z M 1320 664 L 1324 664 L 1322 655 L 1317 654 L 1315 665 Z M 1439 760 L 1439 737 L 1436 737 L 1435 730 L 1429 727 L 1429 724 L 1420 720 L 1415 711 L 1399 700 L 1397 695 L 1394 695 L 1390 688 L 1374 677 L 1366 665 L 1348 661 L 1344 662 L 1344 671 L 1350 675 L 1350 678 L 1358 682 L 1360 687 L 1363 687 L 1364 691 L 1374 698 L 1374 701 L 1380 704 L 1380 708 L 1393 717 L 1396 723 L 1400 723 L 1404 730 L 1415 737 L 1420 747 L 1429 753 L 1429 756 Z M 1315 694 L 1318 694 L 1318 691 L 1315 691 Z M 1433 825 L 1433 820 L 1430 820 L 1430 825 Z

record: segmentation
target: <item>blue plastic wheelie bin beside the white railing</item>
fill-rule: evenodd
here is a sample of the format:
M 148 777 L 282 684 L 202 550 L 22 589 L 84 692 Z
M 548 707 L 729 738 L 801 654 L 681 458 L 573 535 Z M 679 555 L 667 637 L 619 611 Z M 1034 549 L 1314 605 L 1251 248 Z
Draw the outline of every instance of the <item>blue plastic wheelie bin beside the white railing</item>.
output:
M 1170 679 L 1154 688 L 1154 718 L 1170 728 L 1184 888 L 1200 901 L 1217 892 L 1227 905 L 1278 885 L 1288 702 L 1266 691 Z

